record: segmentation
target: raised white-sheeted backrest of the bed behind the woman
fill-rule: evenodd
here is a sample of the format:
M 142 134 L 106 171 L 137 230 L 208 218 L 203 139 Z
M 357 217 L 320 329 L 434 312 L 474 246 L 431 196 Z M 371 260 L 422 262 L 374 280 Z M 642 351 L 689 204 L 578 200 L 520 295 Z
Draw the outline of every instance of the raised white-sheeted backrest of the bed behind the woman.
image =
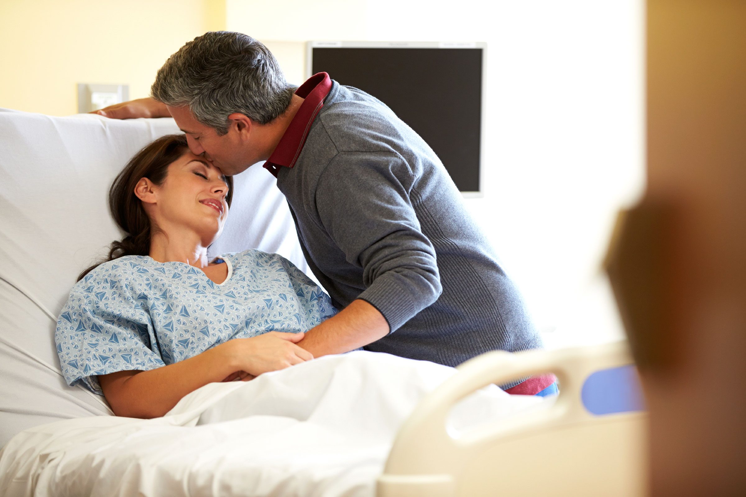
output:
M 103 397 L 65 384 L 57 314 L 78 273 L 121 238 L 108 211 L 113 178 L 146 143 L 178 132 L 172 119 L 0 109 L 0 446 L 34 425 L 111 414 Z M 234 181 L 210 254 L 260 248 L 308 272 L 275 178 L 254 165 Z

